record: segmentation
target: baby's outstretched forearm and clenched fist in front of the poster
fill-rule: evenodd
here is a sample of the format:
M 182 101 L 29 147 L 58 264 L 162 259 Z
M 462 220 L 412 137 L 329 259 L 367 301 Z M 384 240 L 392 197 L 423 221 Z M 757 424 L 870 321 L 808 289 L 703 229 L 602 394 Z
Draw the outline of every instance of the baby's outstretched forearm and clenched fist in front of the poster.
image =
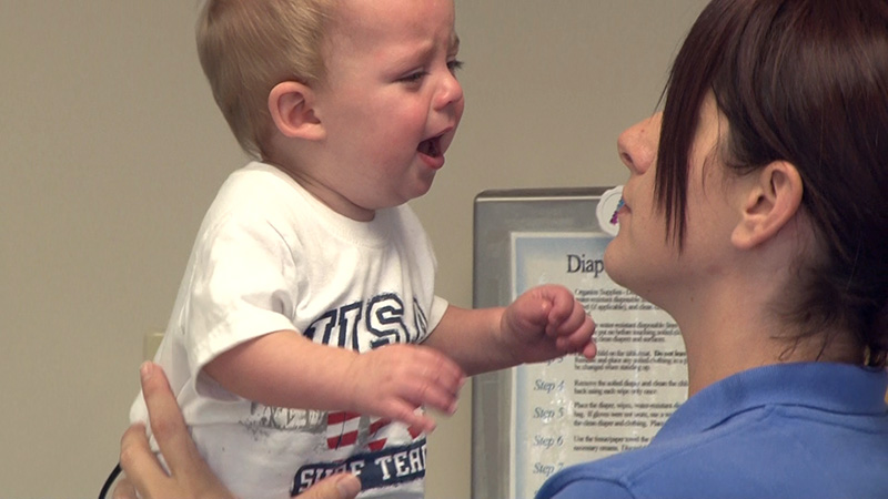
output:
M 451 306 L 424 345 L 440 349 L 471 376 L 581 353 L 596 354 L 595 323 L 564 286 L 544 285 L 508 307 Z

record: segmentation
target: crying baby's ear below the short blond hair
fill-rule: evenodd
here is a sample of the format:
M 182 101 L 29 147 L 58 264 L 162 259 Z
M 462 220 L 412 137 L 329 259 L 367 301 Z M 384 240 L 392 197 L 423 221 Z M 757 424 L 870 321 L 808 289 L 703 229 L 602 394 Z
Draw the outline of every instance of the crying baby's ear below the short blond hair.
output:
M 284 136 L 309 141 L 324 138 L 324 128 L 314 113 L 314 92 L 305 84 L 285 81 L 274 85 L 269 92 L 269 111 Z

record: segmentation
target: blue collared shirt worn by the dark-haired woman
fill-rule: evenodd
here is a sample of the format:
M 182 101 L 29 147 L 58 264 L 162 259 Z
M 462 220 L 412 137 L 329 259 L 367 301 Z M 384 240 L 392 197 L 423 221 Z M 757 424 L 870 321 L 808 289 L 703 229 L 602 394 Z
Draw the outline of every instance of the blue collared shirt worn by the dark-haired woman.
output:
M 888 373 L 746 370 L 685 401 L 650 444 L 566 468 L 537 498 L 888 498 Z

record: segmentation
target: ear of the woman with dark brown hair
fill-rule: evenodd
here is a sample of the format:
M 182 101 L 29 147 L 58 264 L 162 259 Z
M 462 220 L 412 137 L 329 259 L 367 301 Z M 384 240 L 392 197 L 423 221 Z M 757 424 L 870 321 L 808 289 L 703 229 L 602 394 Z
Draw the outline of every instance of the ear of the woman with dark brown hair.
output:
M 753 248 L 776 235 L 801 206 L 804 186 L 798 170 L 786 161 L 775 161 L 756 173 L 741 198 L 740 221 L 731 233 L 731 243 Z

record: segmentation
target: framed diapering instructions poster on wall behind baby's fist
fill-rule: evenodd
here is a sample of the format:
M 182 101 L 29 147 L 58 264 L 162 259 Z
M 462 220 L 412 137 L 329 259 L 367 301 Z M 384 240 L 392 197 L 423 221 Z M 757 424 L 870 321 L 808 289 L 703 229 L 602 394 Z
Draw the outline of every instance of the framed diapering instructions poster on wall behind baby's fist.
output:
M 615 284 L 604 251 L 618 190 L 487 191 L 475 200 L 474 306 L 501 306 L 557 283 L 597 325 L 598 355 L 475 377 L 472 493 L 532 498 L 559 469 L 646 445 L 685 400 L 673 319 Z

